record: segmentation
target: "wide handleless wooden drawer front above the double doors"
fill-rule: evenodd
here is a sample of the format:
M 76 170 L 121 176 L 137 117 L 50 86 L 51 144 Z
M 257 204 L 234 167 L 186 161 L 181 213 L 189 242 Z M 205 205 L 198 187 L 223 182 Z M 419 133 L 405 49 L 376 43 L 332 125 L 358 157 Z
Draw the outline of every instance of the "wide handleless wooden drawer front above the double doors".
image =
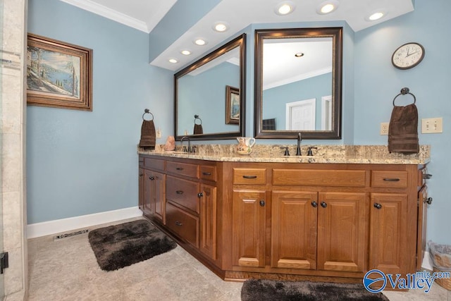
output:
M 273 185 L 365 187 L 365 171 L 273 169 Z

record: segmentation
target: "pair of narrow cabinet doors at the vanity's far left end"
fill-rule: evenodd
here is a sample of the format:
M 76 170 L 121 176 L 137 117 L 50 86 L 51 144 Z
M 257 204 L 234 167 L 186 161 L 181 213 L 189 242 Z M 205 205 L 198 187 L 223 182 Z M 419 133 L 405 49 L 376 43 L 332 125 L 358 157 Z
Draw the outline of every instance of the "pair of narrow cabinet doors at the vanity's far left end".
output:
M 144 170 L 144 214 L 154 216 L 164 223 L 166 175 Z

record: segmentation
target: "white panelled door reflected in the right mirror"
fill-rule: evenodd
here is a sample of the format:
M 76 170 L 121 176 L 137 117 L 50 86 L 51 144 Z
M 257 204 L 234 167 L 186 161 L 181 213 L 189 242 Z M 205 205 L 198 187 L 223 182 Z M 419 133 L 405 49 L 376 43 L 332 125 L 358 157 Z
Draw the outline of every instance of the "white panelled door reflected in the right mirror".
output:
M 286 104 L 286 130 L 315 130 L 316 99 Z

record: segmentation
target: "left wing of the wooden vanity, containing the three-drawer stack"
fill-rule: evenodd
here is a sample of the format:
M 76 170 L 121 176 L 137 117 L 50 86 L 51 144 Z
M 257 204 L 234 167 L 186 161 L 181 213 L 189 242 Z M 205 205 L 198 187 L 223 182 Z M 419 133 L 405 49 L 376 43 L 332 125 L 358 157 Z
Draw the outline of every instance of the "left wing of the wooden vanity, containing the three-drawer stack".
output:
M 199 163 L 140 156 L 140 208 L 180 245 L 216 259 L 216 164 Z

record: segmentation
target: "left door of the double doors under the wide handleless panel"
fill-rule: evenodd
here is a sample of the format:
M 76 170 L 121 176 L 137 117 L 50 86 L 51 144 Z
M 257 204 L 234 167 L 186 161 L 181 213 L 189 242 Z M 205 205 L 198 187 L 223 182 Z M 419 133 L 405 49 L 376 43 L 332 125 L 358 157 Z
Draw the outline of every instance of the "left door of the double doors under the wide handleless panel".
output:
M 318 192 L 273 191 L 271 267 L 316 269 Z

